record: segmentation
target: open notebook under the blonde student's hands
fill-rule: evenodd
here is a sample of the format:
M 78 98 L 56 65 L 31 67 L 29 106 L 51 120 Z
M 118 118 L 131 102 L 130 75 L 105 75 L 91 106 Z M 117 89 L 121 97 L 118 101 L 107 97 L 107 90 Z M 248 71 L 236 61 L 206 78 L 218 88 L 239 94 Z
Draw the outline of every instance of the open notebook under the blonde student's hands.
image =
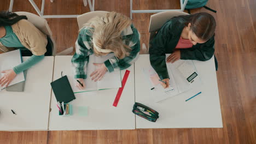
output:
M 121 71 L 113 71 L 112 73 L 107 73 L 103 76 L 103 78 L 100 81 L 92 81 L 91 80 L 91 73 L 96 70 L 96 66 L 93 63 L 103 63 L 109 58 L 112 58 L 114 56 L 114 53 L 109 53 L 107 56 L 95 56 L 90 55 L 89 57 L 89 63 L 85 69 L 87 69 L 87 79 L 85 79 L 85 89 L 83 91 L 80 91 L 77 87 L 75 87 L 76 80 L 75 79 L 69 79 L 71 87 L 74 91 L 74 93 L 78 92 L 88 92 L 88 91 L 96 91 L 100 89 L 110 89 L 110 88 L 119 88 L 121 87 Z M 69 76 L 69 78 L 73 78 Z

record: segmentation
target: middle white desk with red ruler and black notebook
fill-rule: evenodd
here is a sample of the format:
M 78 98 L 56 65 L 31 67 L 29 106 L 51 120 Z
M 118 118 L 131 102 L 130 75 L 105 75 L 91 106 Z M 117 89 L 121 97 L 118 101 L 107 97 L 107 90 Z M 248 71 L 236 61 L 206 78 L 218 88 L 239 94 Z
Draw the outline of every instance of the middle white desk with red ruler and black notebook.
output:
M 61 71 L 63 76 L 72 74 L 71 58 L 55 57 L 54 80 L 60 78 Z M 52 93 L 49 130 L 135 129 L 135 115 L 131 112 L 135 103 L 134 65 L 128 70 L 131 72 L 117 107 L 112 104 L 118 89 L 77 93 L 76 99 L 69 103 L 73 105 L 73 115 L 63 117 L 58 115 L 56 98 Z M 123 77 L 125 70 L 121 72 Z M 88 116 L 79 116 L 75 112 L 78 106 L 88 106 Z

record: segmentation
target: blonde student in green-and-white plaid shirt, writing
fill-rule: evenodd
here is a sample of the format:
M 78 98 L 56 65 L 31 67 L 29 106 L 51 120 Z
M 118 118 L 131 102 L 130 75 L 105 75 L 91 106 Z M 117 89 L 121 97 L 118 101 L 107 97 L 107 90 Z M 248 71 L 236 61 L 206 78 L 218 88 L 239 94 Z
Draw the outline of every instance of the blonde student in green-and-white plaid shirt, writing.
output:
M 74 78 L 79 82 L 79 89 L 85 88 L 83 79 L 94 81 L 101 80 L 106 73 L 114 70 L 129 68 L 139 54 L 139 32 L 132 25 L 131 20 L 122 14 L 111 12 L 102 17 L 95 17 L 80 29 L 78 39 L 75 42 L 76 52 L 72 58 Z M 86 65 L 89 56 L 108 55 L 114 53 L 114 57 L 104 63 L 94 63 L 97 69 L 91 74 L 86 74 Z

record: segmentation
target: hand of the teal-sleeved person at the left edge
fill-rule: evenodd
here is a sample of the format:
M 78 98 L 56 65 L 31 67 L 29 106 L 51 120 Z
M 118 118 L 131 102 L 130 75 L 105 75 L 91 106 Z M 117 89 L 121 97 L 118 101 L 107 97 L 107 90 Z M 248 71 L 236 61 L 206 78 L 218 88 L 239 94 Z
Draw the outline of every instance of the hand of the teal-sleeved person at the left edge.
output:
M 13 69 L 3 70 L 1 71 L 1 73 L 4 74 L 0 79 L 1 87 L 3 87 L 5 84 L 6 84 L 5 87 L 8 87 L 10 82 L 13 81 L 13 79 L 15 78 L 16 73 L 14 72 Z

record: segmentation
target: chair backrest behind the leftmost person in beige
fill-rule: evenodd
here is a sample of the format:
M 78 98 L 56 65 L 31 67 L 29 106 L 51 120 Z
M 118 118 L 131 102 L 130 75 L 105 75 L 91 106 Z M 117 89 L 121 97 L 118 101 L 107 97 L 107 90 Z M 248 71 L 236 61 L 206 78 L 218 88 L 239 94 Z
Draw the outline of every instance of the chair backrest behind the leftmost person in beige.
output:
M 26 15 L 27 20 L 33 23 L 35 27 L 37 27 L 41 32 L 43 32 L 45 35 L 48 37 L 48 43 L 51 45 L 52 53 L 55 55 L 56 53 L 56 48 L 55 48 L 55 41 L 53 39 L 53 32 L 51 32 L 51 29 L 47 23 L 47 21 L 38 15 L 24 12 L 24 11 L 18 11 L 15 12 L 18 15 Z M 50 40 L 50 41 L 49 41 Z

